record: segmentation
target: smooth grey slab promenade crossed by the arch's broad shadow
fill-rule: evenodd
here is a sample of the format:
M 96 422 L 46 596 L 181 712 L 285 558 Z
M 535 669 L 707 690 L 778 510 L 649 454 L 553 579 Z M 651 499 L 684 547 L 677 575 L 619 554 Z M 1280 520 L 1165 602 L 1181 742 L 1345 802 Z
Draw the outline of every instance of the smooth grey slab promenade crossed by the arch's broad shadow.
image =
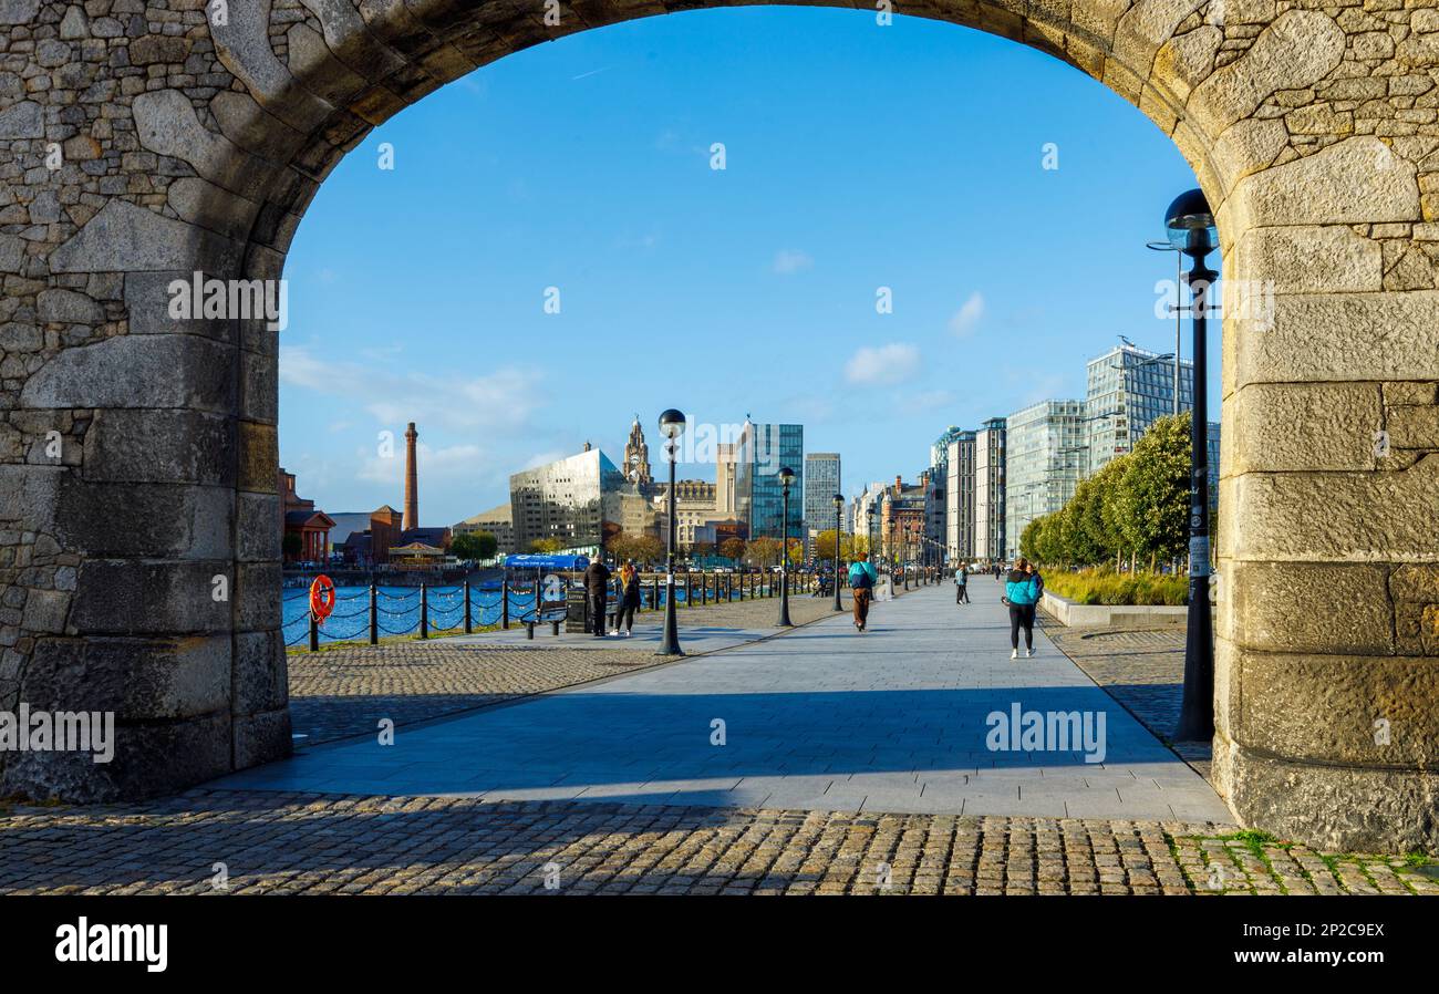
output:
M 991 588 L 993 587 L 993 588 Z M 1204 781 L 1042 633 L 1009 659 L 999 584 L 879 604 L 778 639 L 357 739 L 216 785 L 486 801 L 1227 823 Z M 1078 712 L 1078 742 L 1004 737 L 989 716 Z M 1009 748 L 1019 747 L 1019 748 Z M 1058 748 L 1056 748 L 1058 747 Z M 1094 762 L 1086 760 L 1097 760 Z

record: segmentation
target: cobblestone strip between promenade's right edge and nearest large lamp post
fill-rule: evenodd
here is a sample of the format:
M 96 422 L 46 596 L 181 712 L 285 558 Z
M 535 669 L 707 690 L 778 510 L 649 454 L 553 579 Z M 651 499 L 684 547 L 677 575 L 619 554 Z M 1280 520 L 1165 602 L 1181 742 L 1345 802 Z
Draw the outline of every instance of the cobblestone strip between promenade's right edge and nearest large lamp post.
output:
M 1141 725 L 1210 780 L 1210 742 L 1171 742 L 1184 698 L 1184 626 L 1069 629 L 1042 614 L 1045 634 Z

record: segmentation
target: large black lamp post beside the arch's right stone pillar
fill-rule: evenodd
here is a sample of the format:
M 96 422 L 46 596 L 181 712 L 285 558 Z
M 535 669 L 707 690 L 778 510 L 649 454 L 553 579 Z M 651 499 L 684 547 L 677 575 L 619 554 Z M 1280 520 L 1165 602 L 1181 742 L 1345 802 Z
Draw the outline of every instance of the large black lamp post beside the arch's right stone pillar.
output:
M 1191 259 L 1189 292 L 1194 324 L 1194 403 L 1190 411 L 1189 452 L 1189 633 L 1184 639 L 1184 699 L 1180 705 L 1177 742 L 1215 737 L 1215 643 L 1209 616 L 1209 391 L 1204 358 L 1204 325 L 1209 289 L 1219 273 L 1204 256 L 1219 245 L 1219 229 L 1200 190 L 1180 194 L 1164 213 L 1170 245 Z

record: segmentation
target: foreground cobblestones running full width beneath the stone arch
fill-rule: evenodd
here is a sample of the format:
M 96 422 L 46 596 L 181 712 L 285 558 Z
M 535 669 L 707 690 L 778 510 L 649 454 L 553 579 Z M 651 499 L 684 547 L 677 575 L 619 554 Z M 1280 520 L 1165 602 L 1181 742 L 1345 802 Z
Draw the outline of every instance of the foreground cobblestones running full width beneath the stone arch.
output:
M 213 892 L 1433 895 L 1439 883 L 1403 860 L 1154 821 L 204 790 L 0 810 L 0 893 Z

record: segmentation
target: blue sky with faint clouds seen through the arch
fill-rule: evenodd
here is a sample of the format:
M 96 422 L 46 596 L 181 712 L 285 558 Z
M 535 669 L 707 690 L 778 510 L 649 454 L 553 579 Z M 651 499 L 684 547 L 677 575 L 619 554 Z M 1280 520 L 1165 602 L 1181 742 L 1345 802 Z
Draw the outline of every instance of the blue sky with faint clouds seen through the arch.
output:
M 1174 260 L 1144 243 L 1193 186 L 1102 85 L 953 24 L 753 7 L 568 36 L 325 181 L 285 272 L 281 459 L 327 511 L 399 506 L 414 420 L 420 516 L 449 525 L 586 440 L 619 462 L 636 411 L 658 472 L 679 407 L 803 423 L 846 492 L 912 479 L 948 424 L 1082 397 L 1117 335 L 1173 347 Z M 1217 420 L 1217 328 L 1210 363 Z

